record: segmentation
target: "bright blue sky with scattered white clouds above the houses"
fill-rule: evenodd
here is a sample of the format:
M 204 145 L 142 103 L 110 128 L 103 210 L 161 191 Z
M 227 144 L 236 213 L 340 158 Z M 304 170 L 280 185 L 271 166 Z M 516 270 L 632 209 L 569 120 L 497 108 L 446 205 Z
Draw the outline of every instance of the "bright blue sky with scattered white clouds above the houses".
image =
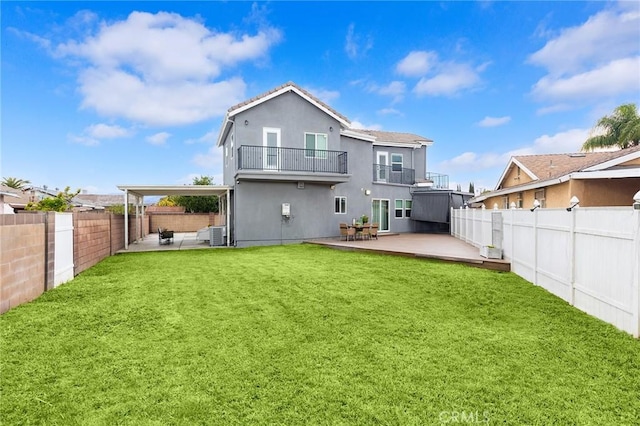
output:
M 492 189 L 640 103 L 640 2 L 1 3 L 0 175 L 117 193 L 222 182 L 232 105 L 294 81 L 355 127 L 434 140 Z

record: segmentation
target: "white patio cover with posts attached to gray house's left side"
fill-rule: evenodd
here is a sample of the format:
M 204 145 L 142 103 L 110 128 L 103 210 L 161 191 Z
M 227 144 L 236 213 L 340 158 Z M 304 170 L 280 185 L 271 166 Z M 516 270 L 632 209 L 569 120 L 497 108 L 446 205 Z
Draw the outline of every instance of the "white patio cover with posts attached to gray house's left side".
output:
M 142 210 L 144 214 L 144 197 L 145 196 L 168 196 L 168 195 L 191 195 L 191 196 L 209 196 L 217 195 L 219 198 L 224 196 L 225 203 L 223 205 L 226 214 L 225 228 L 227 231 L 227 247 L 230 246 L 231 235 L 229 233 L 229 221 L 231 219 L 229 200 L 231 187 L 226 185 L 118 185 L 118 189 L 124 191 L 124 205 L 129 205 L 129 195 L 136 198 L 136 223 Z M 141 207 L 141 209 L 140 209 Z M 129 249 L 129 209 L 124 209 L 124 248 Z

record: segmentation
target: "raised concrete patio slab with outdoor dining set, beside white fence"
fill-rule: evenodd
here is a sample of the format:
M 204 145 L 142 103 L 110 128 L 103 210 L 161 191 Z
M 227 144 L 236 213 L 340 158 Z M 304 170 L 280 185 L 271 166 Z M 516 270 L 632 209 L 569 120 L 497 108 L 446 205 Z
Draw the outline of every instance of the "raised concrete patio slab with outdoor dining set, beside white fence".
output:
M 344 241 L 336 238 L 307 241 L 307 243 L 343 250 L 438 259 L 498 271 L 511 270 L 509 261 L 484 258 L 480 256 L 477 247 L 447 234 L 393 234 L 381 235 L 377 240 Z

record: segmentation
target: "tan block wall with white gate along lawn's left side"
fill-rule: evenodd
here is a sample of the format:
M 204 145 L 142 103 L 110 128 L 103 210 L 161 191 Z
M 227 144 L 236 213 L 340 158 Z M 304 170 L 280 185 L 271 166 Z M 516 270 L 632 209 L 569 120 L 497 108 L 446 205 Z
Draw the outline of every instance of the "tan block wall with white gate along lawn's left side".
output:
M 129 218 L 129 242 L 149 217 Z M 124 216 L 102 212 L 0 215 L 0 314 L 69 281 L 124 248 Z

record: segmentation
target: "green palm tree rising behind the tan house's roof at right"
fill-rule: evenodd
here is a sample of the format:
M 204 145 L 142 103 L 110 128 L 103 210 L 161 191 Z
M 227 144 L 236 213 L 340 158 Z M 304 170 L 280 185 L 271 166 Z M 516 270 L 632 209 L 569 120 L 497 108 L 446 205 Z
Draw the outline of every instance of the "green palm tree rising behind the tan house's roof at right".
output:
M 636 104 L 624 104 L 617 107 L 613 114 L 598 120 L 591 136 L 582 145 L 583 151 L 596 148 L 618 147 L 620 149 L 640 145 L 640 116 Z

